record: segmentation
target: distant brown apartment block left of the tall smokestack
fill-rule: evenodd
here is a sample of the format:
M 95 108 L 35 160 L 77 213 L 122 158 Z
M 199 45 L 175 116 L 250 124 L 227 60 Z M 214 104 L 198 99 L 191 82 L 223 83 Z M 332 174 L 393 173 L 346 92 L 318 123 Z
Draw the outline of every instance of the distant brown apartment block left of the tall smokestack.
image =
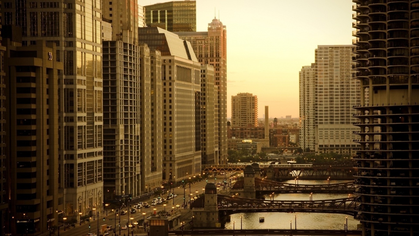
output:
M 231 96 L 231 127 L 258 126 L 258 97 L 251 93 Z

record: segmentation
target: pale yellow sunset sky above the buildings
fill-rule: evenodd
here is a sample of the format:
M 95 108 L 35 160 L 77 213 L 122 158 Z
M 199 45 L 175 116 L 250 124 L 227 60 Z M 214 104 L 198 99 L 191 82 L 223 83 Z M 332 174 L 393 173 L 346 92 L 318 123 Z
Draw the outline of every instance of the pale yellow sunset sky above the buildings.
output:
M 167 1 L 140 5 L 163 2 Z M 352 44 L 352 1 L 300 3 L 296 7 L 292 1 L 197 0 L 197 31 L 207 31 L 214 16 L 228 29 L 227 117 L 231 96 L 243 92 L 257 95 L 260 109 L 269 106 L 270 118 L 298 117 L 301 67 L 313 63 L 318 45 Z

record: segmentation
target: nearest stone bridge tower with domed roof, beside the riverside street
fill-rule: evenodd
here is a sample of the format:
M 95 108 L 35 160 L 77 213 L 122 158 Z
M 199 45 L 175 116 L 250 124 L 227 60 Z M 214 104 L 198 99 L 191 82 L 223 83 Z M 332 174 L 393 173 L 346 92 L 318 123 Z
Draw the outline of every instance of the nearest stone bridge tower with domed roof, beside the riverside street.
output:
M 217 186 L 205 185 L 203 208 L 192 208 L 195 228 L 219 228 L 220 219 L 217 207 Z

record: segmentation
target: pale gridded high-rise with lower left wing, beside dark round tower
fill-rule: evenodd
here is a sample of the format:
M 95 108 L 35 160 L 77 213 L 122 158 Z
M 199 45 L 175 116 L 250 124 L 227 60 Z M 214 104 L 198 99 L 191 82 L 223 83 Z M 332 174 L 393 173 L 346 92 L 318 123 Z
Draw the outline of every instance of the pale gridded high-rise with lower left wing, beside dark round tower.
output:
M 300 118 L 306 119 L 300 139 L 305 149 L 312 148 L 313 131 L 318 154 L 351 154 L 356 147 L 353 132 L 359 128 L 352 124 L 352 107 L 360 102 L 360 83 L 353 78 L 353 52 L 352 45 L 319 45 L 312 65 L 314 78 L 313 67 L 300 71 Z

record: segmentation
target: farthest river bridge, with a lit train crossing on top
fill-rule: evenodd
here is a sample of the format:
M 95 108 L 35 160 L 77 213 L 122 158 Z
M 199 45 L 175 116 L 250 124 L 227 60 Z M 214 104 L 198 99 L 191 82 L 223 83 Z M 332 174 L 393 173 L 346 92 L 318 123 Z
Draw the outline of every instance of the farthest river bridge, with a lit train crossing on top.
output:
M 253 163 L 255 164 L 255 163 Z M 353 180 L 354 162 L 352 160 L 316 164 L 260 164 L 261 175 L 266 176 L 268 169 L 272 170 L 271 180 L 290 180 L 298 176 L 299 179 L 326 180 L 327 178 Z M 244 164 L 202 165 L 205 173 L 241 172 L 246 168 Z

